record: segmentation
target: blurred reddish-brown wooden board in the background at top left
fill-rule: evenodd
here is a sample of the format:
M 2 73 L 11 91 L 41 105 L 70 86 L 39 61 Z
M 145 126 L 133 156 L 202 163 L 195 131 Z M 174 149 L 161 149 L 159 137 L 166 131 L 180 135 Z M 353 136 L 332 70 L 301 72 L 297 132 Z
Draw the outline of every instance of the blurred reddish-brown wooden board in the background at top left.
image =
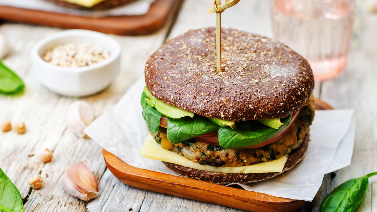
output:
M 156 0 L 144 15 L 92 18 L 0 5 L 0 19 L 69 29 L 89 29 L 117 35 L 144 35 L 157 31 L 174 14 L 180 0 Z

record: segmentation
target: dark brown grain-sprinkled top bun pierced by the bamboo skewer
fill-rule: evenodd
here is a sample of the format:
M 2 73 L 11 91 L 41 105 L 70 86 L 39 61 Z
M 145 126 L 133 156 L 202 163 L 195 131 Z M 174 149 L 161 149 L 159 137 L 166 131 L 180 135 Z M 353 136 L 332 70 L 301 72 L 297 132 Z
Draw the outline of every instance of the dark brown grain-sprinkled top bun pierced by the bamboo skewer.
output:
M 314 77 L 302 56 L 248 32 L 222 28 L 221 37 L 221 73 L 216 73 L 215 28 L 191 30 L 149 58 L 148 90 L 164 103 L 232 121 L 287 117 L 304 106 Z

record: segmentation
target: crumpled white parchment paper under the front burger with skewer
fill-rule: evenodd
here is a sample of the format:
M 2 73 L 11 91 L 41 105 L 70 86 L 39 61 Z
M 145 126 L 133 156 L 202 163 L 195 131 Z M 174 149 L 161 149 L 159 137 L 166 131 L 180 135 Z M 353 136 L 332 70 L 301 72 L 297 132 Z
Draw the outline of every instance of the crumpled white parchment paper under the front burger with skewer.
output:
M 139 155 L 148 134 L 140 105 L 144 86 L 144 79 L 136 81 L 112 110 L 98 117 L 84 132 L 131 166 L 175 175 L 161 161 Z M 353 110 L 316 111 L 307 154 L 294 169 L 269 180 L 240 185 L 277 197 L 313 200 L 323 175 L 351 162 L 355 134 L 352 114 Z

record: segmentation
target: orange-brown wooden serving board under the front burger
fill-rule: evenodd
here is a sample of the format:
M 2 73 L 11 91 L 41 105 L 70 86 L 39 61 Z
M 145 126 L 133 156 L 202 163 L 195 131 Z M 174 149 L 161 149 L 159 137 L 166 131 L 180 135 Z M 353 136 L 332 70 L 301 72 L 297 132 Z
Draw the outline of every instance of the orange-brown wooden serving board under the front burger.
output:
M 327 103 L 315 99 L 316 110 L 333 109 Z M 249 211 L 295 211 L 307 201 L 275 197 L 242 188 L 207 183 L 170 174 L 140 169 L 124 163 L 115 155 L 103 150 L 107 168 L 123 183 L 176 197 L 202 201 Z

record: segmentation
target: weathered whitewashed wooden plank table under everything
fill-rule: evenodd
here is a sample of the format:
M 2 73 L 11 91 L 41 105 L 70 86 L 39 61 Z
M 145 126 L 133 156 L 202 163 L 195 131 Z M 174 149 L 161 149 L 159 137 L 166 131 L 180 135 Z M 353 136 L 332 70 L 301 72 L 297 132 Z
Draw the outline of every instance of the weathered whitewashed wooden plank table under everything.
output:
M 325 175 L 312 203 L 304 210 L 319 210 L 323 197 L 340 183 L 377 171 L 377 14 L 368 12 L 375 0 L 357 2 L 357 15 L 346 69 L 334 80 L 317 82 L 315 96 L 336 109 L 354 108 L 357 129 L 352 163 Z M 212 1 L 187 0 L 178 16 L 152 35 L 112 36 L 123 47 L 121 71 L 105 91 L 82 98 L 97 115 L 112 108 L 130 85 L 143 76 L 147 58 L 167 39 L 188 29 L 215 25 L 215 15 L 208 15 Z M 268 1 L 247 0 L 222 14 L 222 26 L 272 36 Z M 27 132 L 0 133 L 0 167 L 21 192 L 26 211 L 238 211 L 223 206 L 172 197 L 129 187 L 117 180 L 108 169 L 102 149 L 93 140 L 78 138 L 66 129 L 67 107 L 77 98 L 62 97 L 44 88 L 30 74 L 29 51 L 41 38 L 62 29 L 19 23 L 2 23 L 0 34 L 11 46 L 4 63 L 25 81 L 25 93 L 0 97 L 0 119 L 13 123 L 23 121 Z M 51 163 L 43 163 L 38 155 L 45 149 L 54 152 Z M 63 189 L 62 175 L 74 163 L 87 160 L 99 182 L 100 196 L 89 203 L 69 196 Z M 40 173 L 43 187 L 29 187 L 28 178 Z M 358 211 L 377 211 L 375 182 Z

